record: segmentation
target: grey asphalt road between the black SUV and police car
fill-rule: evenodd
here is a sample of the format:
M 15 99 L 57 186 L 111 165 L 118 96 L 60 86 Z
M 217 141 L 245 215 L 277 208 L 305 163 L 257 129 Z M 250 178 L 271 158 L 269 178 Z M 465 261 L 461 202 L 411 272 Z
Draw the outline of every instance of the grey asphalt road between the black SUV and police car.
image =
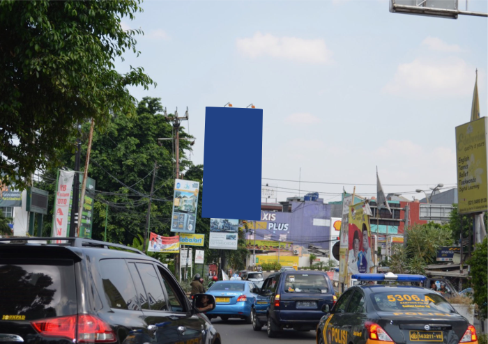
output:
M 277 338 L 268 338 L 266 327 L 261 331 L 254 331 L 252 325 L 244 320 L 229 319 L 222 322 L 220 318 L 212 319 L 212 324 L 220 333 L 222 344 L 270 344 L 285 342 L 288 344 L 314 344 L 315 332 L 298 332 L 292 329 L 285 329 Z

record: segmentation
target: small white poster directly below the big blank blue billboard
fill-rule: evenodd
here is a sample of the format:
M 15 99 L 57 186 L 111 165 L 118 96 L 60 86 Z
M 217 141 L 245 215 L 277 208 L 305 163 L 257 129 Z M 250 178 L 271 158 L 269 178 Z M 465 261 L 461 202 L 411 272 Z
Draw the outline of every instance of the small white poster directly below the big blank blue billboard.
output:
M 239 220 L 210 219 L 209 249 L 237 249 Z

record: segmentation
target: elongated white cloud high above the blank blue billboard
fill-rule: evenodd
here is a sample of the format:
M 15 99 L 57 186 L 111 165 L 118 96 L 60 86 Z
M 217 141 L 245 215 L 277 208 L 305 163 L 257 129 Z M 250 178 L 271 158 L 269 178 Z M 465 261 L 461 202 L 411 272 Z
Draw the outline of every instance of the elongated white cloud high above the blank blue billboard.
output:
M 252 38 L 236 40 L 239 52 L 250 58 L 271 56 L 305 63 L 331 63 L 332 52 L 321 39 L 306 40 L 296 37 L 276 37 L 257 32 Z

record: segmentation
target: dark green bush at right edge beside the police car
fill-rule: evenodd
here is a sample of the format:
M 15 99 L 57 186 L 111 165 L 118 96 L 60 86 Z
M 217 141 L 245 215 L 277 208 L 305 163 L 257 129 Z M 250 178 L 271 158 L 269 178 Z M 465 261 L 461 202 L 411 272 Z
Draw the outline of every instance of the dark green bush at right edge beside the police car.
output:
M 476 244 L 473 256 L 468 260 L 471 266 L 471 286 L 474 289 L 474 302 L 480 307 L 482 318 L 488 318 L 488 237 Z

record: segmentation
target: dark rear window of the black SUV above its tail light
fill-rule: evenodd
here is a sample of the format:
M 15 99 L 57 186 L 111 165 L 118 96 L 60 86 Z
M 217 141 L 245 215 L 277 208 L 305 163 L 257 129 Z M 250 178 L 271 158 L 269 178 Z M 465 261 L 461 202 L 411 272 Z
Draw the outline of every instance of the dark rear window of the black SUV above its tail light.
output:
M 1 318 L 6 315 L 25 317 L 19 320 L 76 314 L 73 261 L 10 263 L 0 260 L 0 311 Z

